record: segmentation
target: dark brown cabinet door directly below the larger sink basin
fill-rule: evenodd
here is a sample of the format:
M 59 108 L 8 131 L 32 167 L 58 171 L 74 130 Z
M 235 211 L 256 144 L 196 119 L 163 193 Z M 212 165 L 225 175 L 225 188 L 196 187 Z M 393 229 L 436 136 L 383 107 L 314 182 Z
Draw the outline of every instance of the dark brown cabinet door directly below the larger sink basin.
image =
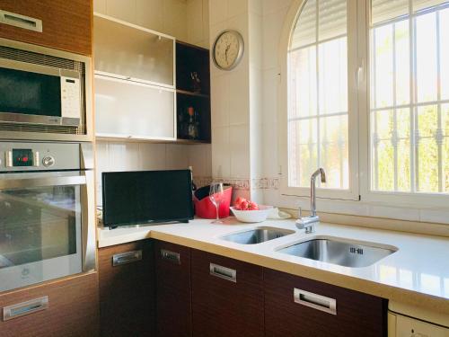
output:
M 264 282 L 267 336 L 386 336 L 383 298 L 275 270 Z

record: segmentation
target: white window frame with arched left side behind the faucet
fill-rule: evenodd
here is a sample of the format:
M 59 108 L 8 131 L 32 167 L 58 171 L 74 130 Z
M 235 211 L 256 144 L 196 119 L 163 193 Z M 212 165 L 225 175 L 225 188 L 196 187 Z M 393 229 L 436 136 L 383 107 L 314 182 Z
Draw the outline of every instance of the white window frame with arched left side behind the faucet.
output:
M 288 49 L 295 22 L 306 0 L 293 0 L 279 43 L 278 154 L 280 193 L 307 197 L 310 188 L 288 186 Z M 449 195 L 372 191 L 370 143 L 369 0 L 348 1 L 348 148 L 349 190 L 317 189 L 317 197 L 357 200 L 409 208 L 449 208 Z M 352 41 L 352 42 L 350 42 Z

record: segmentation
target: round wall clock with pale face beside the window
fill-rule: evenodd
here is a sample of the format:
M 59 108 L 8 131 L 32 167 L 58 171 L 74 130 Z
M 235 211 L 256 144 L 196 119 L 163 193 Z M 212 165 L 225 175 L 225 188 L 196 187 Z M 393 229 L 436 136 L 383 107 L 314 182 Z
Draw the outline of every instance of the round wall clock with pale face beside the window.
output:
M 242 60 L 243 45 L 240 32 L 231 30 L 220 32 L 212 49 L 212 59 L 216 67 L 222 70 L 231 70 L 237 67 Z

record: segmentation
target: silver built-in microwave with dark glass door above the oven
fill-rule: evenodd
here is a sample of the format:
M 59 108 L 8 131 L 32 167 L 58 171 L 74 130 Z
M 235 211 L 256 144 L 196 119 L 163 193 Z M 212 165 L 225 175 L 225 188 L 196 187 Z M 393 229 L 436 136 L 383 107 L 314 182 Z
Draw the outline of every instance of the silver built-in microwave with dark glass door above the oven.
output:
M 80 73 L 0 59 L 0 120 L 78 126 Z

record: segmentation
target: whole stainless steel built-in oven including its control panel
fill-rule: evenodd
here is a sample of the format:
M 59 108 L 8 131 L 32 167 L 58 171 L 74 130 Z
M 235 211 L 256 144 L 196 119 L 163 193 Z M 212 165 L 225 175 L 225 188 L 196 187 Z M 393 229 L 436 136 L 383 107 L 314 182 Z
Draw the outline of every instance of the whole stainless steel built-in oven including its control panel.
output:
M 0 142 L 0 291 L 95 268 L 92 145 Z

